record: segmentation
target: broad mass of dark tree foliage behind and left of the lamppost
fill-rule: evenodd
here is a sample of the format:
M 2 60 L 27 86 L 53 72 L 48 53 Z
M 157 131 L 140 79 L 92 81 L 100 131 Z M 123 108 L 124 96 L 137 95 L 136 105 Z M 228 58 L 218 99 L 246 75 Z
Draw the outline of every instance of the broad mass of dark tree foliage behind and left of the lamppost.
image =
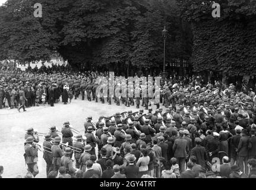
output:
M 162 68 L 163 26 L 169 30 L 166 61 L 189 58 L 191 35 L 176 1 L 8 0 L 0 10 L 0 59 L 49 59 L 53 50 L 74 65 Z M 160 70 L 160 69 L 159 69 Z

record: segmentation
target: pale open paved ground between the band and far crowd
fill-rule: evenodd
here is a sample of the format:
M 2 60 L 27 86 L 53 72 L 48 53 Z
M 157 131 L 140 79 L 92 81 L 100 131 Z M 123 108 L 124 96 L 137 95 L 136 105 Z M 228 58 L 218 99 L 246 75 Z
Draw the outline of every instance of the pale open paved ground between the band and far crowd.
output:
M 156 106 L 153 105 L 153 110 Z M 36 128 L 39 132 L 49 132 L 49 127 L 56 125 L 59 129 L 65 121 L 79 131 L 83 131 L 83 124 L 87 116 L 93 116 L 96 123 L 100 115 L 111 116 L 116 112 L 132 110 L 137 112 L 135 106 L 125 107 L 124 105 L 108 105 L 108 103 L 95 103 L 87 100 L 82 101 L 81 97 L 72 100 L 71 104 L 55 104 L 55 107 L 39 106 L 27 108 L 27 112 L 21 113 L 17 109 L 0 110 L 1 132 L 0 132 L 0 165 L 4 166 L 3 178 L 15 178 L 17 175 L 24 176 L 27 172 L 24 162 L 24 134 L 29 127 Z M 165 109 L 164 109 L 165 110 Z M 147 113 L 147 111 L 146 111 Z M 39 144 L 43 143 L 40 137 Z M 43 160 L 43 153 L 39 151 L 39 175 L 36 178 L 46 178 L 46 164 Z

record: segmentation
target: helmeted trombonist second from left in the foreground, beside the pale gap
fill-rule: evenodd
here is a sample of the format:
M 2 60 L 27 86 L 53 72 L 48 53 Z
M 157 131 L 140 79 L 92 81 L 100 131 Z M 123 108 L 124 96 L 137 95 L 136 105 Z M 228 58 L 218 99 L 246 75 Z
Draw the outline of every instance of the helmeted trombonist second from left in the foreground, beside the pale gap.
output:
M 49 172 L 53 170 L 52 164 L 52 136 L 50 134 L 45 135 L 45 141 L 43 141 L 43 159 L 46 162 L 46 176 L 48 176 Z

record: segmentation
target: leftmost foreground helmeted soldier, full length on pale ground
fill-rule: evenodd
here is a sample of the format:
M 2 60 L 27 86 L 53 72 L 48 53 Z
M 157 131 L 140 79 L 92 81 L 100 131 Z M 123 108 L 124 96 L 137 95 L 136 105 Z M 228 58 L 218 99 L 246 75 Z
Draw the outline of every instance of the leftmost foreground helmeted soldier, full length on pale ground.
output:
M 37 160 L 38 160 L 38 154 L 37 150 L 38 147 L 37 145 L 33 145 L 34 138 L 33 137 L 28 137 L 25 141 L 25 160 L 27 164 L 27 170 L 33 174 L 35 177 L 38 173 L 38 166 L 37 166 Z

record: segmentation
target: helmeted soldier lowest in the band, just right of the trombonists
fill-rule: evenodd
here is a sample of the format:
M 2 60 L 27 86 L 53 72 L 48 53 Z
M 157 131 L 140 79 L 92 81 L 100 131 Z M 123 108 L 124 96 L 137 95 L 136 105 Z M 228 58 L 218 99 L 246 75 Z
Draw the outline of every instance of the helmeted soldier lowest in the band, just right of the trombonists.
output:
M 64 166 L 66 168 L 66 173 L 71 175 L 71 177 L 74 177 L 75 172 L 77 170 L 73 167 L 70 154 L 72 154 L 71 148 L 69 148 L 69 147 L 65 148 L 64 156 L 61 157 L 61 166 Z

